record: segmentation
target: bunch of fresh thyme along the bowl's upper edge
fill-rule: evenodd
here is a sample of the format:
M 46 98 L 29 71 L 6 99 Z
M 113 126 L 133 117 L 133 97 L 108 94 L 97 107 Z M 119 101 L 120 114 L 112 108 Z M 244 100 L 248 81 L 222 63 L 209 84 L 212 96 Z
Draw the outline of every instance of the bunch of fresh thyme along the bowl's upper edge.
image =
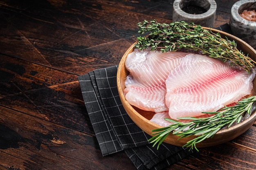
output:
M 231 60 L 235 64 L 250 72 L 256 62 L 236 48 L 236 42 L 227 37 L 222 38 L 220 33 L 202 28 L 193 22 L 172 22 L 160 24 L 156 20 L 150 22 L 144 20 L 139 22 L 139 33 L 150 32 L 147 36 L 139 36 L 135 48 L 140 50 L 150 48 L 152 51 L 161 50 L 179 51 L 181 49 L 192 49 L 200 51 L 209 57 L 219 58 L 223 62 Z

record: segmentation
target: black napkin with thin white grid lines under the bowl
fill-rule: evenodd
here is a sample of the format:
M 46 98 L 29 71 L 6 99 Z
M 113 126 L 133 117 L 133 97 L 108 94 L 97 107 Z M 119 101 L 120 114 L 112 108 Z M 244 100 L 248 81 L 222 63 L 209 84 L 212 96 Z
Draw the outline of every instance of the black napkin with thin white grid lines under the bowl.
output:
M 216 29 L 229 32 L 229 25 Z M 78 77 L 85 107 L 103 156 L 124 150 L 138 170 L 162 170 L 190 155 L 188 148 L 148 142 L 150 136 L 128 116 L 117 91 L 117 67 L 111 66 Z

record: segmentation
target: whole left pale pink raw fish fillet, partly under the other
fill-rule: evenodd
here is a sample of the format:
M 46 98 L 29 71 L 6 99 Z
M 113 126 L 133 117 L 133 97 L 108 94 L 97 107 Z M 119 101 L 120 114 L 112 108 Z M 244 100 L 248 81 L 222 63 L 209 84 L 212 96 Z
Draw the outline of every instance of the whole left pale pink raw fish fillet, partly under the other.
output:
M 187 53 L 140 51 L 135 49 L 126 58 L 130 72 L 126 79 L 124 95 L 133 106 L 146 111 L 168 110 L 165 104 L 165 81 L 172 69 L 180 64 Z

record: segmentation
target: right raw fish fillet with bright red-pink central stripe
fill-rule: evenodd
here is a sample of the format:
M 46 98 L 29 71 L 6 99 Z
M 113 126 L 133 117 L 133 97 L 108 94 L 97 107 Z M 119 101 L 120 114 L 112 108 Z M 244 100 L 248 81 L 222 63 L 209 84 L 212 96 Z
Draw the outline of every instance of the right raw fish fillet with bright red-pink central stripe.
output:
M 172 119 L 198 117 L 238 102 L 252 91 L 255 73 L 218 59 L 188 54 L 166 79 L 166 105 Z

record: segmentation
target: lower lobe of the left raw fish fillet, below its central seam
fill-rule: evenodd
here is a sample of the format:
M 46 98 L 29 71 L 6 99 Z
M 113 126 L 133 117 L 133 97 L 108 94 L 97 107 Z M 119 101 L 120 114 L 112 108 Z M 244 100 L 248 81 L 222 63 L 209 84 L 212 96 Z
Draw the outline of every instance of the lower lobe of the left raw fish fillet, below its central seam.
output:
M 165 104 L 166 86 L 141 88 L 129 86 L 124 89 L 126 100 L 133 106 L 146 111 L 162 112 L 168 110 Z

